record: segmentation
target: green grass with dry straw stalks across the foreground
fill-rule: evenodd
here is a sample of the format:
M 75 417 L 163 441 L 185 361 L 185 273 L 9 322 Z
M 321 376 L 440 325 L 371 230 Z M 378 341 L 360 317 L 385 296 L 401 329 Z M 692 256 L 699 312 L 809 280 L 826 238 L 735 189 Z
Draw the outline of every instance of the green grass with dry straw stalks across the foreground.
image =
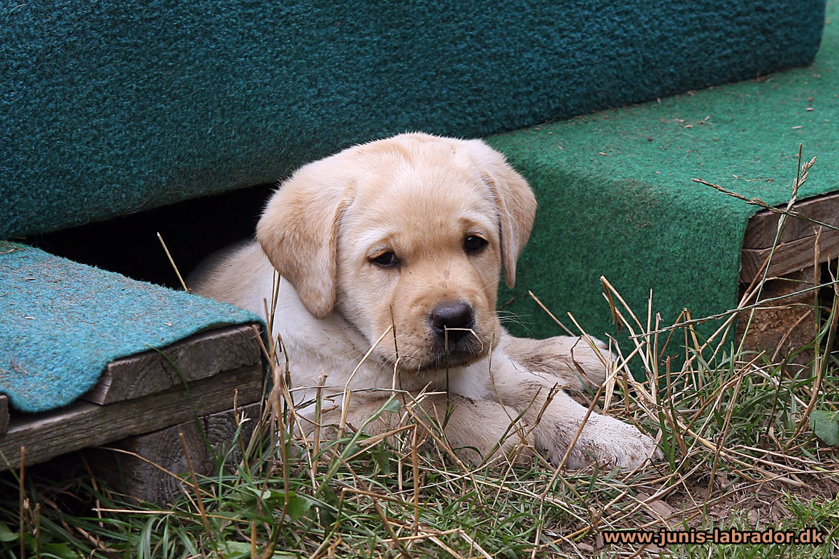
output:
M 801 167 L 796 184 L 809 168 Z M 6 476 L 0 557 L 837 556 L 839 289 L 828 267 L 814 269 L 820 289 L 802 285 L 788 298 L 795 303 L 762 303 L 812 313 L 809 343 L 769 351 L 754 350 L 748 332 L 736 341 L 734 331 L 737 315 L 741 324 L 760 323 L 753 300 L 778 281 L 765 274 L 739 308 L 714 318 L 719 328 L 710 339 L 701 339 L 688 313 L 666 328 L 651 309 L 638 318 L 604 279 L 634 347 L 619 355 L 596 409 L 657 437 L 665 455 L 637 472 L 557 472 L 541 458 L 467 468 L 451 458 L 439 429 L 416 421 L 387 438 L 281 437 L 277 422 L 294 422 L 294 409 L 284 360 L 271 353 L 281 412 L 264 414 L 250 437 L 240 432 L 245 450 L 221 456 L 227 465 L 216 475 L 187 475 L 167 508 L 119 494 L 85 468 Z M 604 537 L 769 527 L 815 528 L 826 541 L 659 547 Z

